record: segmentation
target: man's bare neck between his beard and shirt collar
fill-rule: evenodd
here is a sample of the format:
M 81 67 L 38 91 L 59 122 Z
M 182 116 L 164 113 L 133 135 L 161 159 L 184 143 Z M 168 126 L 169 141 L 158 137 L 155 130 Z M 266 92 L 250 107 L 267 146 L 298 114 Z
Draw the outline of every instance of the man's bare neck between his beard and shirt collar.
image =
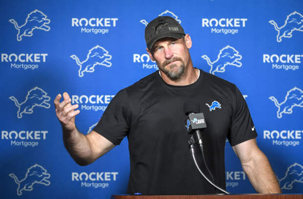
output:
M 189 64 L 187 67 L 185 67 L 184 72 L 177 80 L 172 80 L 169 77 L 165 75 L 161 70 L 159 70 L 161 78 L 168 84 L 174 85 L 174 86 L 186 86 L 192 83 L 195 83 L 195 81 L 199 78 L 200 71 L 193 67 L 193 64 Z

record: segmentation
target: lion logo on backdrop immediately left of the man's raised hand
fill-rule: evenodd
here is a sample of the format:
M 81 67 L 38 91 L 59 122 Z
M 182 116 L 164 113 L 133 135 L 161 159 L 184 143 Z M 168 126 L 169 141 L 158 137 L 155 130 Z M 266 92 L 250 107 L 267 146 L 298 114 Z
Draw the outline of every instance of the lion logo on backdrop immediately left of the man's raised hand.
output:
M 19 119 L 22 118 L 23 113 L 32 114 L 35 106 L 40 106 L 43 108 L 50 107 L 50 104 L 47 103 L 47 101 L 50 100 L 50 97 L 47 96 L 45 91 L 37 86 L 27 92 L 25 100 L 22 103 L 19 103 L 14 96 L 9 97 L 9 99 L 14 101 L 15 105 L 18 107 L 17 117 Z

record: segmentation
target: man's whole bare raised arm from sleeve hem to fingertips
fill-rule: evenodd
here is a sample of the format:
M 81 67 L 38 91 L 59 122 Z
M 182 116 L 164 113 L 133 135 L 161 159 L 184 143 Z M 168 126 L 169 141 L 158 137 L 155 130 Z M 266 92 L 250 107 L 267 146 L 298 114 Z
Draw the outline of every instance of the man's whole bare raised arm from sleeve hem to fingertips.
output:
M 79 132 L 75 125 L 75 116 L 80 113 L 78 104 L 72 105 L 68 94 L 63 93 L 54 100 L 56 115 L 63 128 L 63 141 L 70 156 L 79 164 L 87 165 L 103 156 L 115 145 L 95 131 L 84 135 Z

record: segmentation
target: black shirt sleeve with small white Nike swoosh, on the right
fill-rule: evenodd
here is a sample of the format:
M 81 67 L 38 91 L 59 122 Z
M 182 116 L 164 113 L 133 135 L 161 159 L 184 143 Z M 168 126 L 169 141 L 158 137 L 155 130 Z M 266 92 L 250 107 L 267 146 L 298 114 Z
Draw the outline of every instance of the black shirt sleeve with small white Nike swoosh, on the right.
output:
M 235 86 L 236 87 L 236 86 Z M 235 146 L 241 142 L 256 138 L 257 132 L 250 116 L 248 106 L 243 95 L 236 87 L 236 95 L 233 106 L 232 125 L 227 136 L 230 144 Z

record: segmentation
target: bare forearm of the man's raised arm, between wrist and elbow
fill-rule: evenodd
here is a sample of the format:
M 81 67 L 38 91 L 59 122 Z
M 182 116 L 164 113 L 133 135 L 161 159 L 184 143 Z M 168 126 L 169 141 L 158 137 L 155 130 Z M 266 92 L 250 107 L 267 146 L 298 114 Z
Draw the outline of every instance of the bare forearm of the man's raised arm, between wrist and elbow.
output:
M 69 132 L 63 130 L 63 141 L 70 156 L 79 165 L 87 165 L 94 161 L 89 140 L 77 128 Z

